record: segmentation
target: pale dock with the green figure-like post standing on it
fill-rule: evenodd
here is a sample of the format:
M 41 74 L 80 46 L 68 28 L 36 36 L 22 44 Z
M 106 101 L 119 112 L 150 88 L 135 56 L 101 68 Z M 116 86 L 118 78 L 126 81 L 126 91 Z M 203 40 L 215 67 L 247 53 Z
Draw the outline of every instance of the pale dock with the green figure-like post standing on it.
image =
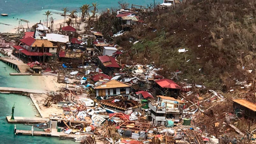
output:
M 14 120 L 10 120 L 11 116 L 6 116 L 8 123 L 20 123 L 20 124 L 39 124 L 48 123 L 49 119 L 46 118 L 29 118 L 29 117 L 14 117 Z

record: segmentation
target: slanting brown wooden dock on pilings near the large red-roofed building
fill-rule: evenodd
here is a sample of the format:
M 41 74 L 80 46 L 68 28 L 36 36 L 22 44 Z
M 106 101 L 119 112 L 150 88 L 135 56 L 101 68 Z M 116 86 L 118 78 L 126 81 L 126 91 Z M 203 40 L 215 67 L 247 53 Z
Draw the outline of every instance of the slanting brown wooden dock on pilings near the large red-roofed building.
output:
M 18 71 L 19 73 L 26 73 L 29 69 L 29 66 L 21 61 L 13 60 L 10 57 L 0 57 L 0 61 L 8 64 L 10 67 Z

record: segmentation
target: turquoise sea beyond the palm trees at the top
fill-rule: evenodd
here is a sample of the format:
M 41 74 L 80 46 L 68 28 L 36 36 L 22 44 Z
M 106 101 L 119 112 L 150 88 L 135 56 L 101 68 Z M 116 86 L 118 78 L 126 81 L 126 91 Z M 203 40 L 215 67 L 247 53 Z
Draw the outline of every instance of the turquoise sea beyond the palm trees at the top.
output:
M 103 11 L 106 8 L 118 8 L 118 1 L 120 0 L 0 0 L 0 13 L 9 14 L 8 17 L 0 16 L 0 32 L 9 32 L 11 29 L 18 27 L 18 19 L 26 19 L 30 24 L 35 24 L 41 20 L 46 21 L 46 16 L 43 15 L 45 11 L 52 11 L 55 20 L 63 19 L 55 12 L 62 12 L 63 7 L 67 7 L 70 11 L 77 10 L 79 16 L 79 7 L 82 4 L 97 3 L 98 10 Z M 137 4 L 147 6 L 153 4 L 154 0 L 121 0 L 130 4 Z M 155 0 L 155 4 L 161 3 L 163 0 Z M 129 7 L 130 7 L 129 6 Z M 3 25 L 8 24 L 8 25 Z M 22 23 L 26 28 L 26 23 Z

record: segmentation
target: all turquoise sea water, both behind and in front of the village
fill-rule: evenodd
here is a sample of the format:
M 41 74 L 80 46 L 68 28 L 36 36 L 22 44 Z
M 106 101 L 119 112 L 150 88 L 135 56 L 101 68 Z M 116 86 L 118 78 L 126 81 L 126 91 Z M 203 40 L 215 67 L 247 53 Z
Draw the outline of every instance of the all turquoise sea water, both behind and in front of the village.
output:
M 97 2 L 99 12 L 106 8 L 117 8 L 119 0 L 0 0 L 0 13 L 8 13 L 8 17 L 0 16 L 0 32 L 8 32 L 18 25 L 17 18 L 29 20 L 31 23 L 43 21 L 46 17 L 44 11 L 61 12 L 62 7 L 68 7 L 69 10 L 77 9 L 82 4 L 91 4 Z M 129 4 L 138 4 L 147 6 L 153 4 L 154 0 L 123 0 Z M 162 0 L 155 0 L 158 4 Z M 13 18 L 14 17 L 14 18 Z M 54 19 L 63 19 L 63 17 L 53 14 Z M 25 26 L 25 24 L 23 24 Z M 0 61 L 0 87 L 17 87 L 26 89 L 42 90 L 43 88 L 36 81 L 36 76 L 10 76 L 9 73 L 16 72 L 8 65 Z M 15 103 L 15 116 L 34 117 L 37 114 L 35 107 L 29 97 L 15 94 L 0 94 L 0 143 L 2 144 L 65 144 L 75 143 L 71 140 L 59 140 L 58 138 L 39 137 L 39 136 L 21 136 L 13 134 L 14 124 L 8 124 L 5 116 L 11 115 L 11 107 Z M 16 125 L 18 129 L 30 130 L 31 126 L 23 124 Z

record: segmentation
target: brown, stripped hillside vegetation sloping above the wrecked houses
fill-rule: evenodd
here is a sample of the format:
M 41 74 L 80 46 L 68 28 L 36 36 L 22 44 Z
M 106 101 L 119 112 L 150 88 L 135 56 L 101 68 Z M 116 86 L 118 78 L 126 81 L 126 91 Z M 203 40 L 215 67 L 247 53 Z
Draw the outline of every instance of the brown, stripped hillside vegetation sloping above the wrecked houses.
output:
M 128 51 L 122 60 L 128 64 L 154 62 L 167 78 L 170 72 L 182 71 L 179 81 L 225 92 L 236 80 L 254 83 L 255 7 L 254 0 L 187 0 L 171 10 L 141 14 L 147 25 L 137 25 L 115 42 Z M 105 36 L 119 30 L 113 15 L 99 18 L 101 25 L 112 26 L 103 30 Z M 178 53 L 180 47 L 188 51 Z

